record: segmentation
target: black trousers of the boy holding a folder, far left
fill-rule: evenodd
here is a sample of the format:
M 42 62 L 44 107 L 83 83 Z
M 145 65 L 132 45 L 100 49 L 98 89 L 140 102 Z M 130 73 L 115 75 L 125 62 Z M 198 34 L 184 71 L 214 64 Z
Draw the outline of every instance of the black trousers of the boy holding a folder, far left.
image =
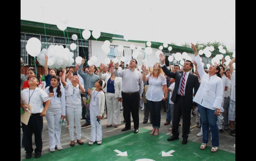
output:
M 33 115 L 33 114 L 32 114 Z M 26 153 L 32 153 L 32 134 L 35 135 L 36 149 L 35 153 L 42 152 L 43 142 L 42 142 L 42 131 L 43 131 L 43 117 L 39 115 L 30 116 L 28 125 L 21 122 L 22 128 L 24 129 L 25 138 L 25 151 Z

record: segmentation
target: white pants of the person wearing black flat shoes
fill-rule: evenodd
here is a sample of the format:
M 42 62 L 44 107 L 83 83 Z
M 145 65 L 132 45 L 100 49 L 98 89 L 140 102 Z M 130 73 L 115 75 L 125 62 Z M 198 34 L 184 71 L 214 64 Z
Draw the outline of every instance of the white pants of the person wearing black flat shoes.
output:
M 74 140 L 74 123 L 76 126 L 76 139 L 81 139 L 81 116 L 82 116 L 82 108 L 73 108 L 66 106 L 66 115 L 68 117 L 69 122 L 69 135 L 70 141 Z

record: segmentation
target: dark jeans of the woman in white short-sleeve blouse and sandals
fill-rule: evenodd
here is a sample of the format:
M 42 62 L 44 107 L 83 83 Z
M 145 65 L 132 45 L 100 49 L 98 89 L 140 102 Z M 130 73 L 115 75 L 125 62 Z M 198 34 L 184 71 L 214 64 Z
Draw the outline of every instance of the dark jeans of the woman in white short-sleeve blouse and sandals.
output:
M 148 108 L 151 113 L 152 127 L 160 128 L 161 122 L 161 106 L 163 101 L 149 101 L 147 100 Z

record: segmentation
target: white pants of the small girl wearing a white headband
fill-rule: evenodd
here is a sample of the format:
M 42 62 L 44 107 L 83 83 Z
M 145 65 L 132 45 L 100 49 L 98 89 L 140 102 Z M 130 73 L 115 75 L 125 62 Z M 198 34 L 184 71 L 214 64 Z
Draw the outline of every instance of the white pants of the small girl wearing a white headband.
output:
M 91 119 L 91 141 L 100 141 L 102 140 L 102 130 L 101 130 L 101 121 L 96 121 L 96 116 L 99 115 L 99 112 L 90 111 L 90 119 Z M 96 135 L 97 133 L 97 135 Z

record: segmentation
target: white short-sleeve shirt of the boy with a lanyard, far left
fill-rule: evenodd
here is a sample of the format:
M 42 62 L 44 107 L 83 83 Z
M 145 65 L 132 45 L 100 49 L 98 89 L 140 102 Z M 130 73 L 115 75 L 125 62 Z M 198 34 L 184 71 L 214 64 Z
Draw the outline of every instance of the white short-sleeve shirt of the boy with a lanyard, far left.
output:
M 21 92 L 21 101 L 31 105 L 32 114 L 41 113 L 44 110 L 43 101 L 46 102 L 48 100 L 50 100 L 50 97 L 47 93 L 38 87 L 33 90 L 27 88 Z

